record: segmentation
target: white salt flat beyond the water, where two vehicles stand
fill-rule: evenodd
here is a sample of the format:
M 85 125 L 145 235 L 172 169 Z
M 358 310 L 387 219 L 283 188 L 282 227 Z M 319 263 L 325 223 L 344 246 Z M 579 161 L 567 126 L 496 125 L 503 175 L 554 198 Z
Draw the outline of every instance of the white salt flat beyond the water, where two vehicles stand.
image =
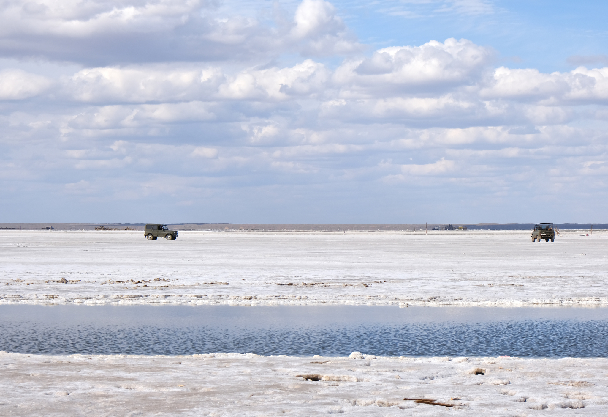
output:
M 0 231 L 0 303 L 607 304 L 608 233 L 581 234 Z

